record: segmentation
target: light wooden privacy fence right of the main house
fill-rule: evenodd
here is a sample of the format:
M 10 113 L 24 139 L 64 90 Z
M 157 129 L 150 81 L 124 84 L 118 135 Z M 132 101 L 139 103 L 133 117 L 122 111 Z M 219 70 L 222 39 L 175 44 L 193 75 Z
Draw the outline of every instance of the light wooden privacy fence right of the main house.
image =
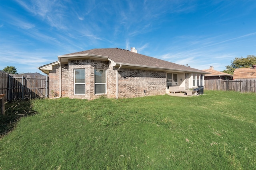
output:
M 204 89 L 256 93 L 256 79 L 204 80 Z

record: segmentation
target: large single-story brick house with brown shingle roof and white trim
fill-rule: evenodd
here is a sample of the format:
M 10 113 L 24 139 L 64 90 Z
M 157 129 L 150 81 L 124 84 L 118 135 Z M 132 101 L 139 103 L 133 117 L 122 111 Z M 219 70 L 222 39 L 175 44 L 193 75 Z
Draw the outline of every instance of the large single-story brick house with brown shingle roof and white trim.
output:
M 49 75 L 50 98 L 93 100 L 162 95 L 169 86 L 186 89 L 204 85 L 204 72 L 131 51 L 91 49 L 58 56 L 38 67 Z

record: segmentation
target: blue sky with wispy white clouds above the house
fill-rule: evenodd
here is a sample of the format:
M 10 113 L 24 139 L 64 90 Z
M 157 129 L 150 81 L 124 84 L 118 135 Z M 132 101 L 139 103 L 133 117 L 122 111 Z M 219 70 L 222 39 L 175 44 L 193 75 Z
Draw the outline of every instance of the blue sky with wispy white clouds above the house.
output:
M 256 1 L 0 1 L 0 70 L 20 73 L 94 48 L 223 71 L 256 55 Z M 40 72 L 41 73 L 41 72 Z

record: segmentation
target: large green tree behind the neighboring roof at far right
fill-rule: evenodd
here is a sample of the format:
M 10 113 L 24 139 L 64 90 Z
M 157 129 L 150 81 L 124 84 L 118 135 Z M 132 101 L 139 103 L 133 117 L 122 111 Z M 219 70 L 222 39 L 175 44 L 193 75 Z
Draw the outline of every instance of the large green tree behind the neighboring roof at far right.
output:
M 252 67 L 253 64 L 256 64 L 256 57 L 255 55 L 247 55 L 246 58 L 238 58 L 236 57 L 230 65 L 226 66 L 226 72 L 228 74 L 233 74 L 236 68 L 248 68 Z

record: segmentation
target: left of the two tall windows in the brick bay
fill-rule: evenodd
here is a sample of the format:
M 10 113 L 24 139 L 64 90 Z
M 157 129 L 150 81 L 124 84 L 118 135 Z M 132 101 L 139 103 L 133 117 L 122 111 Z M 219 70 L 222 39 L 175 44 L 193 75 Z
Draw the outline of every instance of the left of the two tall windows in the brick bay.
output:
M 74 92 L 85 94 L 85 69 L 74 69 Z

